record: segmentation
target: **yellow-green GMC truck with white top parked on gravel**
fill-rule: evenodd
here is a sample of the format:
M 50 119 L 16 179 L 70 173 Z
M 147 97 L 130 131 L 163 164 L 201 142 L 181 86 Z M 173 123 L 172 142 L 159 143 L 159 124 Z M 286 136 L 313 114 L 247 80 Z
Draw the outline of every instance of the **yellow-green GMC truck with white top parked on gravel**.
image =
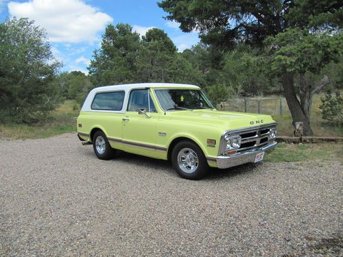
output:
M 276 145 L 276 122 L 264 114 L 216 110 L 198 86 L 143 83 L 91 90 L 78 117 L 78 137 L 96 156 L 116 150 L 170 160 L 182 177 L 209 167 L 261 162 Z

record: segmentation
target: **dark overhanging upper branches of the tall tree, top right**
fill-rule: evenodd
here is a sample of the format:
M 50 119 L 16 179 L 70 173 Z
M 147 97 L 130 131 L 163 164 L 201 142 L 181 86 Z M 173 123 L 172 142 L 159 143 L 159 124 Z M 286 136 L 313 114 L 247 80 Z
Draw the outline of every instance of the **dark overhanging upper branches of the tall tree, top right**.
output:
M 163 0 L 158 6 L 184 32 L 196 29 L 204 42 L 226 49 L 237 42 L 263 46 L 267 36 L 300 29 L 342 27 L 342 3 L 330 0 Z

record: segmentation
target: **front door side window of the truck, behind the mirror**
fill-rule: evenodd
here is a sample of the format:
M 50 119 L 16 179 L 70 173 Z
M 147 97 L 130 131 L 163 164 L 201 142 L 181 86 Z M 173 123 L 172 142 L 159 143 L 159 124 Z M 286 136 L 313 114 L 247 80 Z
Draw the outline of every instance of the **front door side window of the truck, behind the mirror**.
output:
M 147 112 L 156 112 L 149 89 L 132 90 L 128 102 L 128 112 L 138 112 L 144 108 Z

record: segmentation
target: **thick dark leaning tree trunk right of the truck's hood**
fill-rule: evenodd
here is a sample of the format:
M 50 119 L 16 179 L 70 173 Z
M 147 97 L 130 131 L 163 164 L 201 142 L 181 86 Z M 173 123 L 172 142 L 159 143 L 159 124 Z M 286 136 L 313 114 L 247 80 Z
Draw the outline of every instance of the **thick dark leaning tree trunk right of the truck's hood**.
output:
M 285 73 L 285 75 L 281 77 L 281 83 L 283 85 L 283 91 L 285 92 L 289 111 L 292 114 L 294 127 L 296 122 L 303 122 L 304 136 L 312 136 L 314 132 L 311 130 L 309 117 L 304 114 L 303 108 L 301 107 L 298 98 L 296 98 L 296 90 L 294 88 L 294 73 Z

